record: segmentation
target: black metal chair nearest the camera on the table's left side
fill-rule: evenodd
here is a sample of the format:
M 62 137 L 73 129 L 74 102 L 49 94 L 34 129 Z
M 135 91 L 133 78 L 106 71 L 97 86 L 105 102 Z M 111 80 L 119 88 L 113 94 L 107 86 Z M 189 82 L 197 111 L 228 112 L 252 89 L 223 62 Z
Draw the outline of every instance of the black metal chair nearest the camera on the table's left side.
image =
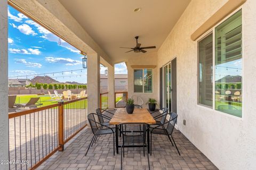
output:
M 114 145 L 114 155 L 115 155 L 115 129 L 114 128 L 110 128 L 109 126 L 103 125 L 100 122 L 95 120 L 95 116 L 100 116 L 97 115 L 95 113 L 90 113 L 87 116 L 87 120 L 89 121 L 89 124 L 91 126 L 92 129 L 92 133 L 93 133 L 93 138 L 91 140 L 91 143 L 86 151 L 85 156 L 87 155 L 87 152 L 89 151 L 91 145 L 93 144 L 93 141 L 102 134 L 113 134 L 113 145 Z M 103 118 L 103 117 L 101 117 Z

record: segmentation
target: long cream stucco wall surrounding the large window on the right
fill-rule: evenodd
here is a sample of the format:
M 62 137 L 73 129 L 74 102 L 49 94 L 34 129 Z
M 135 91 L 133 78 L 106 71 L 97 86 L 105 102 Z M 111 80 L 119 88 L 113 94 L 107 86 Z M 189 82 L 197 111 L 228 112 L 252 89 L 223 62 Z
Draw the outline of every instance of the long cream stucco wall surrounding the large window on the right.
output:
M 219 169 L 256 169 L 255 0 L 243 4 L 243 117 L 197 105 L 197 42 L 190 35 L 226 2 L 192 0 L 158 50 L 158 69 L 177 57 L 179 130 Z

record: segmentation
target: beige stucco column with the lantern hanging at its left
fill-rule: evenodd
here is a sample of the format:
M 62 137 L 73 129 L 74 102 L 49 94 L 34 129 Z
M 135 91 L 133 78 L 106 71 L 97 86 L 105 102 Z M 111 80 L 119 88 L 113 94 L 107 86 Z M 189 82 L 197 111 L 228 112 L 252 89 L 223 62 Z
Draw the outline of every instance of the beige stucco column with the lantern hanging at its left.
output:
M 100 56 L 89 54 L 87 58 L 87 113 L 96 113 L 100 107 Z

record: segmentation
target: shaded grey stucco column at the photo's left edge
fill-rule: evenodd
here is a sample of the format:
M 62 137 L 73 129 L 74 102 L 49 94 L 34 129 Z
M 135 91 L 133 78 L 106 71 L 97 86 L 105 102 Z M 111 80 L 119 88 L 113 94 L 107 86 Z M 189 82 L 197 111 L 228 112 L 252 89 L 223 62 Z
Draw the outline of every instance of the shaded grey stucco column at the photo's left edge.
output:
M 8 160 L 8 23 L 7 0 L 0 1 L 0 160 Z M 9 169 L 0 164 L 0 169 Z

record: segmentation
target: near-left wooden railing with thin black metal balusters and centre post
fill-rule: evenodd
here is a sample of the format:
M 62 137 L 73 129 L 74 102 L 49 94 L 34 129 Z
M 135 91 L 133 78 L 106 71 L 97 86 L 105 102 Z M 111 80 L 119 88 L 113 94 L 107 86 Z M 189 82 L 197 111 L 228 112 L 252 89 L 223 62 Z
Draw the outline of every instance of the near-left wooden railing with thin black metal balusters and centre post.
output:
M 9 169 L 35 169 L 86 126 L 87 97 L 9 114 Z

